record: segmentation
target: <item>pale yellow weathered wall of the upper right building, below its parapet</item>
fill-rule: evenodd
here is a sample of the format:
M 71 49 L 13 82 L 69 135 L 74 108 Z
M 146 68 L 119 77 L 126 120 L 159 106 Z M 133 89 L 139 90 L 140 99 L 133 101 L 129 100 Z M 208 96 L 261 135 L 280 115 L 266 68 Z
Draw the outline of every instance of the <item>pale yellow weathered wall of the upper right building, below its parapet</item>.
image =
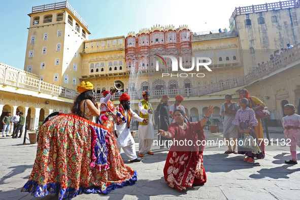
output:
M 273 16 L 277 22 L 272 22 Z M 264 24 L 258 24 L 259 17 L 264 18 Z M 255 69 L 258 63 L 270 60 L 275 50 L 287 48 L 287 43 L 295 45 L 300 42 L 299 18 L 299 8 L 243 14 L 235 18 L 245 74 Z M 251 20 L 251 25 L 245 25 L 246 19 Z M 254 48 L 255 53 L 250 54 L 249 48 Z

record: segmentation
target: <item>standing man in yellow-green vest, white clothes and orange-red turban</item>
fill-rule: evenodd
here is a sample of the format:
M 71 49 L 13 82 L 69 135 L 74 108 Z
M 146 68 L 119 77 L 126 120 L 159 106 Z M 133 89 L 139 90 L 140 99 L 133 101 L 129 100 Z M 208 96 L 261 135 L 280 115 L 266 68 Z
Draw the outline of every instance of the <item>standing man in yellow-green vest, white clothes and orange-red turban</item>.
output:
M 150 92 L 148 90 L 143 92 L 144 100 L 139 103 L 140 117 L 148 119 L 148 124 L 139 122 L 139 156 L 143 157 L 143 153 L 146 151 L 148 154 L 153 155 L 151 151 L 153 139 L 154 139 L 154 118 L 153 109 L 151 104 L 148 102 Z

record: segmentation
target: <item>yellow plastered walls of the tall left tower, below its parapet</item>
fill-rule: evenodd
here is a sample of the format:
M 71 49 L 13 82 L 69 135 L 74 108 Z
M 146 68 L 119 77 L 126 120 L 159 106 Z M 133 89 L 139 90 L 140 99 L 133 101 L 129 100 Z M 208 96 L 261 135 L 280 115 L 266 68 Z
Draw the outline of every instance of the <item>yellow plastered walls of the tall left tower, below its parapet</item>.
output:
M 64 11 L 64 13 L 62 12 Z M 63 14 L 62 20 L 57 21 L 57 15 Z M 44 23 L 44 17 L 52 14 L 52 22 Z M 73 25 L 68 23 L 68 16 L 73 19 Z M 68 9 L 46 11 L 41 13 L 29 14 L 30 26 L 28 29 L 27 48 L 25 56 L 24 70 L 29 71 L 28 66 L 32 66 L 31 72 L 40 76 L 43 81 L 61 85 L 70 89 L 76 89 L 81 74 L 81 56 L 83 41 L 88 39 L 88 30 L 76 19 Z M 33 24 L 34 19 L 39 16 L 39 24 Z M 76 23 L 80 31 L 75 28 Z M 86 32 L 86 38 L 82 36 L 82 31 Z M 58 37 L 58 31 L 61 36 Z M 47 40 L 44 40 L 44 34 L 47 34 Z M 31 42 L 31 37 L 35 36 L 35 42 Z M 60 44 L 60 50 L 57 45 Z M 43 48 L 46 47 L 46 53 L 43 54 Z M 29 57 L 29 52 L 34 51 L 33 57 Z M 77 52 L 77 57 L 75 53 Z M 59 64 L 56 63 L 59 59 Z M 45 63 L 42 69 L 42 62 Z M 77 71 L 73 70 L 73 64 L 77 64 Z M 69 69 L 68 69 L 69 66 Z M 57 80 L 54 79 L 57 74 Z M 69 77 L 68 83 L 64 82 L 64 75 Z M 73 77 L 77 79 L 73 84 Z

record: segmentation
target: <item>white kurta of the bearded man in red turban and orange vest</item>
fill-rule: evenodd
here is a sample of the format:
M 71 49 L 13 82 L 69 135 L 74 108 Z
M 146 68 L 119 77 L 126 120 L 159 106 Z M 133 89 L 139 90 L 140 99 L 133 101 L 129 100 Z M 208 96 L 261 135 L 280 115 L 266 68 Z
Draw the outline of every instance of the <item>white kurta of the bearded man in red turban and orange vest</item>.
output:
M 124 109 L 124 108 L 122 107 L 122 109 Z M 125 110 L 124 110 L 124 112 L 125 112 L 125 118 L 128 121 L 128 112 Z M 131 108 L 130 108 L 130 112 L 131 112 L 131 118 L 134 118 L 137 121 L 144 120 L 137 113 L 132 111 Z M 117 131 L 118 131 L 118 138 L 116 139 L 118 148 L 123 148 L 123 147 L 129 146 L 129 145 L 135 144 L 135 140 L 131 136 L 131 132 L 130 132 L 130 129 L 128 128 L 127 123 L 128 122 L 122 123 L 120 125 L 117 125 L 117 124 L 115 125 L 117 128 Z

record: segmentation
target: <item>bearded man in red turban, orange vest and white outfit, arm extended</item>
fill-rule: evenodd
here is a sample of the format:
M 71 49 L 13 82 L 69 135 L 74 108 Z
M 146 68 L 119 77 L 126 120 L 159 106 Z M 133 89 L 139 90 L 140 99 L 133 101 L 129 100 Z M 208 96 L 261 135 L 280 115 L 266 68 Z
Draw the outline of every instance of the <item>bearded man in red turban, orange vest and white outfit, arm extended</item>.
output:
M 140 162 L 142 158 L 138 158 L 136 153 L 135 140 L 132 138 L 130 133 L 130 121 L 131 117 L 137 121 L 148 123 L 147 119 L 139 117 L 138 114 L 133 112 L 130 108 L 130 96 L 127 93 L 123 93 L 120 96 L 120 104 L 115 108 L 119 110 L 120 113 L 125 117 L 126 121 L 122 124 L 116 124 L 118 138 L 116 139 L 119 152 L 121 153 L 121 148 L 125 154 L 130 158 L 130 162 Z

